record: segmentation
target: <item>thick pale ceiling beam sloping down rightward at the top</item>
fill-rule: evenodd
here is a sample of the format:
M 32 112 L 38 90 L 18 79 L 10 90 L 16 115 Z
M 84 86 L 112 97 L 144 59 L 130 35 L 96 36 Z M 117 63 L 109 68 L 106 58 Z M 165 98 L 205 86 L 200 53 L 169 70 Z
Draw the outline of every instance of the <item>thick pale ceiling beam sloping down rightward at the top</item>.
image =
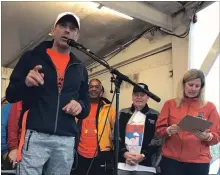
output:
M 172 31 L 171 16 L 138 1 L 97 1 L 106 7 Z

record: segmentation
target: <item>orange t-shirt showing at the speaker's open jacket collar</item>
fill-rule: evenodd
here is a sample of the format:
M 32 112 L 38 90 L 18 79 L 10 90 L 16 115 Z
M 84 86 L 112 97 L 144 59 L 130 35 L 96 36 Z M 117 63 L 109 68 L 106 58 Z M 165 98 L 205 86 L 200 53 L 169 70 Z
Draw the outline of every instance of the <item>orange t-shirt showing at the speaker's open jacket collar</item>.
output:
M 47 49 L 47 54 L 50 56 L 51 60 L 53 61 L 53 64 L 56 67 L 57 83 L 58 83 L 59 92 L 61 92 L 61 89 L 63 87 L 64 73 L 66 66 L 70 60 L 70 56 L 69 54 L 58 53 L 52 49 Z

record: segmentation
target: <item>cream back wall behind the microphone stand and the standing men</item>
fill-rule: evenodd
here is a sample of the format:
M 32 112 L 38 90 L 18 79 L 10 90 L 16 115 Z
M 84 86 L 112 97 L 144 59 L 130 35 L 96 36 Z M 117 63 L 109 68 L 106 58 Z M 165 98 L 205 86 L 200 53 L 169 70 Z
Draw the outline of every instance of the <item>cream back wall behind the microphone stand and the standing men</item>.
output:
M 128 60 L 137 55 L 150 52 L 156 48 L 160 48 L 166 44 L 171 43 L 171 37 L 169 36 L 156 36 L 150 41 L 146 38 L 141 38 L 140 40 L 133 43 L 125 51 L 118 54 L 116 57 L 109 61 L 110 65 L 115 65 L 119 62 Z M 103 69 L 103 66 L 99 66 L 89 72 L 92 75 L 94 72 Z M 160 111 L 162 105 L 167 99 L 173 98 L 173 78 L 170 77 L 169 71 L 172 70 L 172 50 L 166 50 L 164 52 L 143 58 L 139 61 L 127 64 L 118 68 L 118 70 L 126 75 L 133 73 L 139 73 L 139 82 L 144 82 L 149 86 L 151 92 L 156 94 L 161 98 L 161 102 L 157 103 L 153 100 L 149 101 L 149 105 Z M 110 100 L 112 94 L 110 94 L 111 74 L 106 72 L 104 74 L 92 77 L 98 78 L 102 81 L 105 87 L 105 96 Z M 114 87 L 114 86 L 113 86 Z M 132 87 L 121 89 L 120 95 L 120 109 L 124 107 L 129 107 L 131 105 L 131 94 Z

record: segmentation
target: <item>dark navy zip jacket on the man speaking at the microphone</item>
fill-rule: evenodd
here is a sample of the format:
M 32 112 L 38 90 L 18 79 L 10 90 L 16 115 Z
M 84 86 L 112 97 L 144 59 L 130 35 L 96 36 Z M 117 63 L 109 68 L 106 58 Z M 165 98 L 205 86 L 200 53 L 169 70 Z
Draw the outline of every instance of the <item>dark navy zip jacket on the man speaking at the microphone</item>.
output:
M 61 136 L 76 136 L 78 129 L 75 118 L 66 114 L 62 108 L 71 100 L 82 106 L 77 118 L 85 118 L 90 111 L 88 93 L 88 72 L 82 63 L 70 53 L 70 61 L 65 70 L 62 91 L 58 92 L 57 71 L 46 53 L 52 41 L 45 41 L 34 50 L 24 53 L 14 68 L 6 90 L 6 99 L 10 103 L 22 100 L 29 109 L 26 128 L 42 133 Z M 42 65 L 44 84 L 39 87 L 27 87 L 25 78 L 36 65 Z

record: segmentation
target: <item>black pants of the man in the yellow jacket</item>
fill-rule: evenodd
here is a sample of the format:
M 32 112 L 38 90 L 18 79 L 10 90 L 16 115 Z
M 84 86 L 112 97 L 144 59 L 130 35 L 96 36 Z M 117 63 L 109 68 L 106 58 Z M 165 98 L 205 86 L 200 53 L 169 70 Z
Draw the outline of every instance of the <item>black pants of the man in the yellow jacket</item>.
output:
M 91 169 L 88 175 L 110 175 L 112 172 L 106 172 L 103 167 L 105 161 L 103 157 L 96 157 L 93 161 Z M 78 160 L 75 159 L 74 162 L 78 162 L 77 168 L 71 172 L 72 175 L 86 175 L 88 168 L 91 164 L 92 158 L 85 158 L 78 154 Z

